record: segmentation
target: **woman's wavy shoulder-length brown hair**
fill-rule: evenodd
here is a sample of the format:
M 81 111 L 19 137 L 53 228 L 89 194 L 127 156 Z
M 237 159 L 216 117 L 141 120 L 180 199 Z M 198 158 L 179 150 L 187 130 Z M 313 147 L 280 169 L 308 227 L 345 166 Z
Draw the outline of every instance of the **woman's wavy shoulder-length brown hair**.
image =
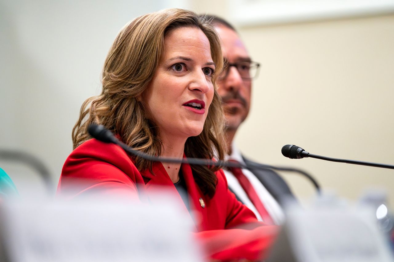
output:
M 89 140 L 91 123 L 104 125 L 128 146 L 162 155 L 162 141 L 157 126 L 147 118 L 147 111 L 138 97 L 148 87 L 164 55 L 164 38 L 180 27 L 201 29 L 210 42 L 216 72 L 223 67 L 219 37 L 209 22 L 192 11 L 166 9 L 140 16 L 126 24 L 113 42 L 104 63 L 102 93 L 88 98 L 81 107 L 78 122 L 72 129 L 74 149 Z M 214 97 L 208 110 L 203 131 L 189 137 L 185 144 L 188 157 L 223 159 L 223 109 L 216 92 L 216 76 L 212 77 Z M 143 101 L 142 101 L 143 102 Z M 152 161 L 131 156 L 138 170 L 152 170 Z M 219 167 L 191 166 L 194 179 L 209 197 L 215 194 Z

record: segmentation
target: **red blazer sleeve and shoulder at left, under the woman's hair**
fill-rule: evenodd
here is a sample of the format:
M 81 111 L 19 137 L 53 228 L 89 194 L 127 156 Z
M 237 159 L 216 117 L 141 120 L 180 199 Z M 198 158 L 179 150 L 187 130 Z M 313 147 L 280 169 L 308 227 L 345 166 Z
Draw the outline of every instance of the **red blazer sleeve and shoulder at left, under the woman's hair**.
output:
M 125 151 L 92 139 L 76 148 L 65 161 L 57 193 L 72 197 L 125 195 L 135 199 L 139 183 L 143 183 L 139 171 Z

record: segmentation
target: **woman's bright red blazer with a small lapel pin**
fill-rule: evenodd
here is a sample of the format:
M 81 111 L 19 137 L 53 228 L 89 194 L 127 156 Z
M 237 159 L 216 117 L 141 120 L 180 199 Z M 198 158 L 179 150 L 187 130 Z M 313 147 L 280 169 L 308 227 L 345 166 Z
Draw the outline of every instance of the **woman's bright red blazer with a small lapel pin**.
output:
M 199 215 L 197 232 L 194 234 L 202 242 L 208 256 L 219 260 L 256 260 L 264 257 L 277 228 L 258 222 L 253 212 L 236 200 L 227 187 L 222 170 L 216 172 L 216 193 L 210 199 L 195 183 L 190 166 L 182 164 L 181 169 L 190 208 Z M 149 170 L 137 170 L 132 159 L 119 146 L 91 139 L 78 146 L 67 158 L 61 172 L 58 194 L 122 194 L 138 198 L 143 190 L 144 196 L 149 198 L 158 187 L 165 186 L 178 197 L 179 204 L 186 210 L 164 166 L 160 162 L 154 162 L 152 171 L 154 174 Z M 200 198 L 205 207 L 202 207 Z M 255 229 L 235 229 L 245 223 L 255 223 Z

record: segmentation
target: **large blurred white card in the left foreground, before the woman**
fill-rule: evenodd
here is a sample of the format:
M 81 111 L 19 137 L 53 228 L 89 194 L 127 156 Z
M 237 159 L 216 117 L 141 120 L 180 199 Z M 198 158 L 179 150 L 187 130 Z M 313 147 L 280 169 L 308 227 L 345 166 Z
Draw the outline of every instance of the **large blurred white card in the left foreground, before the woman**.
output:
M 171 199 L 160 198 L 150 205 L 87 200 L 4 203 L 0 261 L 201 261 L 188 233 L 190 218 Z

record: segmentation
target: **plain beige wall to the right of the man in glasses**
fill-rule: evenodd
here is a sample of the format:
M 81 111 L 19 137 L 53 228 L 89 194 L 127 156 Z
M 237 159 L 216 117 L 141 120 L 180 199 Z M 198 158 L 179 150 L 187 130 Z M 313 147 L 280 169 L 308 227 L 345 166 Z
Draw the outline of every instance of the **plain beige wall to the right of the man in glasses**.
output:
M 230 20 L 227 2 L 220 4 L 217 13 Z M 215 13 L 201 1 L 194 8 Z M 283 145 L 296 144 L 329 157 L 394 164 L 394 15 L 238 30 L 262 65 L 251 113 L 236 137 L 245 155 L 302 168 L 323 190 L 347 199 L 372 187 L 387 190 L 394 205 L 394 170 L 281 155 Z M 304 178 L 284 178 L 297 196 L 314 194 Z

